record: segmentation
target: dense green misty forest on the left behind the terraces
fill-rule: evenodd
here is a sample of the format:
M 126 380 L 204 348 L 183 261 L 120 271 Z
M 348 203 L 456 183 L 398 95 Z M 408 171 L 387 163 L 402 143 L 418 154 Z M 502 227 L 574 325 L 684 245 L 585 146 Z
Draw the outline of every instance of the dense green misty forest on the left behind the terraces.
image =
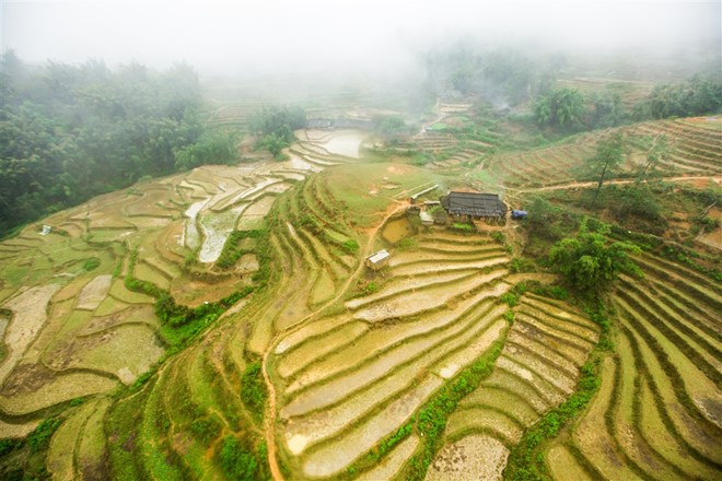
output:
M 187 64 L 0 57 L 0 237 L 12 228 L 147 176 L 235 160 L 234 139 L 207 130 Z

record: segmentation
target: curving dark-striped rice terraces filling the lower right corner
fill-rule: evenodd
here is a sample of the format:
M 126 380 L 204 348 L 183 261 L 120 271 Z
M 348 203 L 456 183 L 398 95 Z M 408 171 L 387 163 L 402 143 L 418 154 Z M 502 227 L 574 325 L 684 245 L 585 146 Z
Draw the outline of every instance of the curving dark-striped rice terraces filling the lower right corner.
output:
M 645 280 L 622 278 L 614 298 L 618 355 L 605 359 L 599 394 L 547 462 L 591 478 L 717 479 L 722 293 L 669 261 L 645 255 L 639 265 Z

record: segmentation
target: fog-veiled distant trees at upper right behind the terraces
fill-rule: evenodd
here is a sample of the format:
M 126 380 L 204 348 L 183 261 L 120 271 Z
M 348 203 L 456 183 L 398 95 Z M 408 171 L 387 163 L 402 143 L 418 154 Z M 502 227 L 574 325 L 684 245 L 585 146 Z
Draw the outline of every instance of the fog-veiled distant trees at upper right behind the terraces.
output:
M 463 45 L 430 51 L 422 60 L 426 91 L 434 101 L 456 91 L 479 95 L 501 110 L 531 103 L 537 124 L 551 129 L 579 131 L 722 110 L 719 69 L 686 82 L 656 85 L 647 98 L 629 106 L 622 103 L 620 92 L 584 95 L 574 87 L 559 87 L 557 79 L 569 77 L 572 67 L 561 54 L 531 55 L 514 48 L 485 50 Z

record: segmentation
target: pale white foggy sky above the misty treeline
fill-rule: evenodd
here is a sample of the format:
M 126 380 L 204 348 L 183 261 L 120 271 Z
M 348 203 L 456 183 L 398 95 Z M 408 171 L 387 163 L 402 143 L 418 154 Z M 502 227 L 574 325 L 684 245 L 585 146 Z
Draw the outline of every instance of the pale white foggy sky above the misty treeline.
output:
M 484 0 L 0 0 L 0 50 L 25 61 L 201 73 L 391 69 L 415 52 L 470 36 L 570 49 L 661 50 L 720 38 L 714 1 Z M 721 47 L 722 48 L 722 47 Z

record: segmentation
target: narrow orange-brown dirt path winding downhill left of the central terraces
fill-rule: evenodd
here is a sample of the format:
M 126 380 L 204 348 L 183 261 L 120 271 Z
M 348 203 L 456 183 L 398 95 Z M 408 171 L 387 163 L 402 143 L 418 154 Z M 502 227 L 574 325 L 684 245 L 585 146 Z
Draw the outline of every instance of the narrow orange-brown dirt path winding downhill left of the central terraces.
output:
M 386 215 L 384 216 L 384 219 L 381 222 L 379 222 L 379 224 L 376 224 L 374 227 L 366 231 L 369 241 L 366 242 L 366 245 L 363 247 L 363 251 L 361 253 L 361 258 L 365 258 L 369 255 L 371 255 L 371 250 L 373 249 L 374 241 L 376 238 L 376 235 L 379 234 L 379 230 L 386 223 L 386 221 L 388 221 L 391 218 L 398 214 L 408 207 L 406 202 L 400 202 L 400 201 L 395 201 L 395 202 L 396 202 L 395 207 L 393 207 L 392 204 L 392 208 L 386 210 Z M 281 470 L 278 466 L 278 460 L 276 459 L 276 436 L 273 435 L 273 429 L 276 426 L 276 388 L 270 379 L 270 376 L 268 375 L 268 356 L 270 355 L 270 353 L 273 350 L 273 347 L 278 343 L 281 337 L 295 332 L 301 327 L 303 327 L 303 325 L 308 319 L 313 318 L 316 314 L 323 312 L 326 307 L 333 305 L 339 298 L 341 298 L 343 293 L 348 291 L 349 286 L 351 285 L 351 282 L 353 282 L 359 275 L 361 275 L 363 270 L 364 270 L 364 263 L 359 262 L 359 267 L 356 269 L 356 271 L 353 271 L 353 273 L 351 273 L 351 275 L 349 275 L 347 281 L 343 283 L 341 289 L 338 290 L 338 294 L 336 294 L 334 298 L 326 302 L 324 305 L 322 305 L 314 312 L 310 313 L 305 317 L 291 324 L 282 331 L 279 331 L 270 340 L 270 342 L 268 343 L 268 348 L 264 352 L 261 372 L 264 374 L 264 382 L 266 383 L 266 388 L 268 389 L 268 403 L 266 404 L 266 414 L 264 415 L 264 431 L 266 436 L 266 446 L 268 447 L 268 466 L 270 467 L 271 477 L 273 478 L 275 481 L 283 480 L 283 474 L 281 473 Z

